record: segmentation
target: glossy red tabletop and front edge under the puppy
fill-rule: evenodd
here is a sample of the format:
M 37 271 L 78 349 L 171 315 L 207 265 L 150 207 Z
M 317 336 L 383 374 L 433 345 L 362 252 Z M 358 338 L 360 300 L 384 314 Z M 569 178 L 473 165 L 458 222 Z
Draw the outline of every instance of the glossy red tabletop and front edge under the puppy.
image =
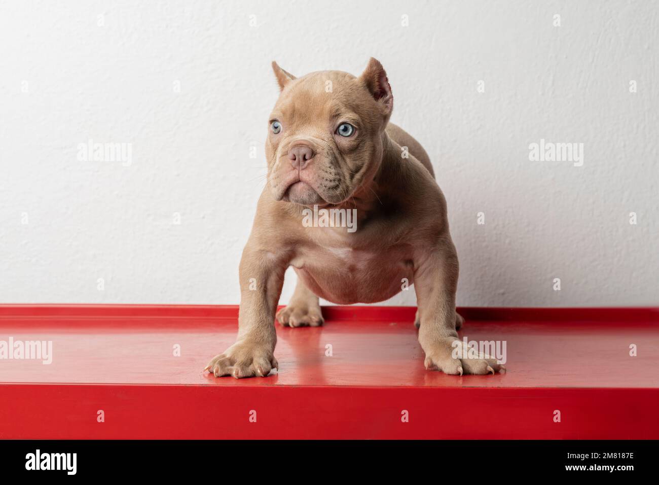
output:
M 0 437 L 659 438 L 658 309 L 462 309 L 460 337 L 507 342 L 506 373 L 463 377 L 424 369 L 414 308 L 324 311 L 236 380 L 202 372 L 236 307 L 0 306 L 0 340 L 53 341 L 0 360 Z

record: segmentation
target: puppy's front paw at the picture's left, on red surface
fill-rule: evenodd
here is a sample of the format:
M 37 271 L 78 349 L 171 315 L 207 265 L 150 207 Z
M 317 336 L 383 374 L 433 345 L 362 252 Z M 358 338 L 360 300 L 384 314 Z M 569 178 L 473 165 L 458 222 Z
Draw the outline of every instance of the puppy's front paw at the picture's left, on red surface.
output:
M 277 368 L 277 359 L 269 346 L 236 342 L 223 354 L 212 358 L 204 370 L 215 377 L 233 375 L 236 379 L 241 379 L 255 375 L 266 377 L 272 369 Z

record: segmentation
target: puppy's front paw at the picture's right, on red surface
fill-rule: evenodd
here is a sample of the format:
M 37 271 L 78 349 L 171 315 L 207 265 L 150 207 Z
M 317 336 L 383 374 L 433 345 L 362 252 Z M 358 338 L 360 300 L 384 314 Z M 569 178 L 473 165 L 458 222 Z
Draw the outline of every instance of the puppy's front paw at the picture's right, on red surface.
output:
M 422 345 L 426 352 L 426 369 L 447 374 L 494 374 L 505 370 L 496 359 L 485 354 L 471 355 L 464 342 L 455 337 L 444 337 Z

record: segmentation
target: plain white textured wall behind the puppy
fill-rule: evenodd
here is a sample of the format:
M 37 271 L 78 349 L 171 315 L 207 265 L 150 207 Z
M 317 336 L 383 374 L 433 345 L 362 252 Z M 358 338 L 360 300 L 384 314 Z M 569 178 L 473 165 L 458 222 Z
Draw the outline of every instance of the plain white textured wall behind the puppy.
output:
M 0 302 L 239 302 L 277 97 L 270 61 L 357 75 L 374 56 L 392 121 L 426 147 L 449 201 L 460 305 L 656 304 L 658 11 L 3 1 Z M 88 139 L 130 143 L 132 163 L 78 160 Z M 583 143 L 583 166 L 530 161 L 540 139 Z M 390 303 L 414 301 L 410 291 Z

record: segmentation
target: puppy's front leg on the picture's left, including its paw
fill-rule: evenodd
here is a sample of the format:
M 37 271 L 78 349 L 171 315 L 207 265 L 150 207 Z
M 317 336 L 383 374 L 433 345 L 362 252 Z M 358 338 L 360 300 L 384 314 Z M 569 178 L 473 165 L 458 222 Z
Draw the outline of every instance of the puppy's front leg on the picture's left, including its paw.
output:
M 233 375 L 239 379 L 265 377 L 277 368 L 274 316 L 287 265 L 282 252 L 275 253 L 272 247 L 266 249 L 250 238 L 240 264 L 238 337 L 235 344 L 215 356 L 204 370 L 215 377 Z

